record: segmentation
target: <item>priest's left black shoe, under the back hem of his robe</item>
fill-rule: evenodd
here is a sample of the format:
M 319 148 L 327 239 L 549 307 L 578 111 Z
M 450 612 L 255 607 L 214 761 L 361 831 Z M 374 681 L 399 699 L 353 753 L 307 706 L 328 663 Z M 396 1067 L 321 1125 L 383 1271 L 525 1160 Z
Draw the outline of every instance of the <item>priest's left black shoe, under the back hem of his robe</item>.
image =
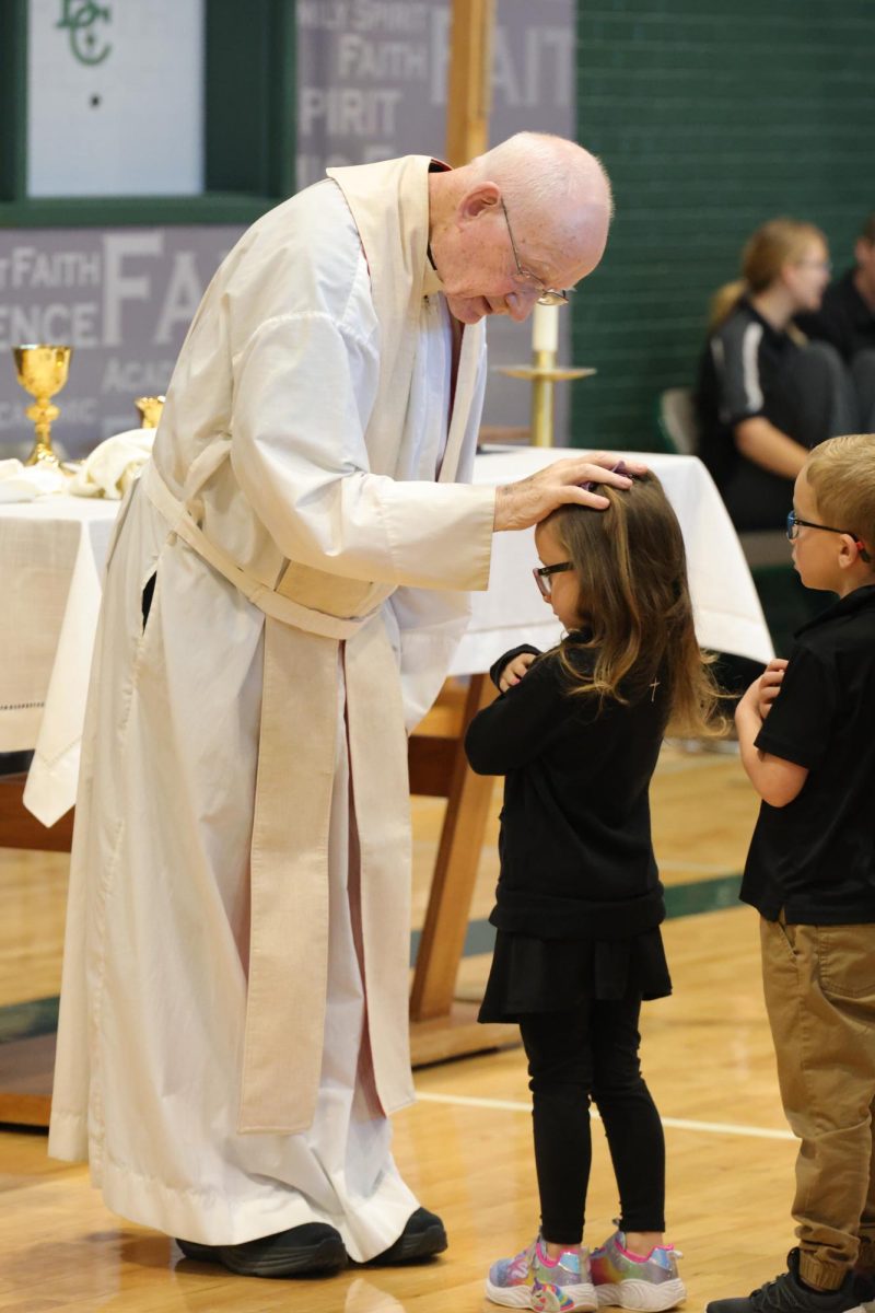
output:
M 324 1222 L 304 1222 L 303 1226 L 248 1239 L 243 1245 L 195 1245 L 190 1239 L 177 1239 L 176 1243 L 186 1258 L 198 1263 L 220 1263 L 240 1276 L 328 1275 L 346 1267 L 340 1232 Z

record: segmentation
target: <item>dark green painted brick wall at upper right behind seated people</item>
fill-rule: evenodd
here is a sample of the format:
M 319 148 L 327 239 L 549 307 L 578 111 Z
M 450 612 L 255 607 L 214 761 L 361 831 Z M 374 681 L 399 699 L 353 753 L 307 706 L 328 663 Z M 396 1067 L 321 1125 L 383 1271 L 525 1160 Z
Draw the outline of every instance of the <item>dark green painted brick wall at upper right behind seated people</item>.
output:
M 659 393 L 689 385 L 707 301 L 748 234 L 819 223 L 838 269 L 875 210 L 875 0 L 585 0 L 577 139 L 617 218 L 575 297 L 572 441 L 659 446 Z

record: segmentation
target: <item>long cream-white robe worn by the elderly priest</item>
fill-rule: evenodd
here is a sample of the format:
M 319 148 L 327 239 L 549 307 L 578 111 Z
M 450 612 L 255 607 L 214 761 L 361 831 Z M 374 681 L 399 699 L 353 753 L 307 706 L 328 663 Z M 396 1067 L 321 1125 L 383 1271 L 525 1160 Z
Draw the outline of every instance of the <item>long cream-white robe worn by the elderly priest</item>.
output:
M 459 590 L 488 582 L 495 509 L 462 482 L 481 326 L 450 423 L 429 163 L 338 169 L 241 238 L 110 549 L 50 1153 L 201 1243 L 325 1221 L 365 1260 L 416 1208 L 387 1117 L 412 1099 L 409 839 L 370 815 L 401 779 L 395 708 L 425 713 Z

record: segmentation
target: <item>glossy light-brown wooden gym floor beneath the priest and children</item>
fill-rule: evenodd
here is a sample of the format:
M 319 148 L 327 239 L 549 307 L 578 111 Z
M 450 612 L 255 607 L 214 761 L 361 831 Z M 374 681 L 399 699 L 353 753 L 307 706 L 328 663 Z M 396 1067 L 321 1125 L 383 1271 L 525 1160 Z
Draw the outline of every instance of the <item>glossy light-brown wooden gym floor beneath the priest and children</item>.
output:
M 443 804 L 415 809 L 415 923 L 421 922 Z M 496 806 L 497 811 L 497 806 Z M 665 924 L 674 995 L 645 1004 L 644 1070 L 668 1146 L 669 1238 L 683 1251 L 687 1308 L 744 1295 L 783 1267 L 795 1148 L 778 1100 L 763 1015 L 756 914 L 735 901 L 756 817 L 737 758 L 668 747 L 653 788 L 657 857 L 677 913 Z M 58 993 L 67 857 L 0 851 L 1 1022 Z M 472 909 L 478 944 L 496 878 L 487 836 Z M 691 914 L 691 909 L 720 907 Z M 686 914 L 685 914 L 686 913 Z M 476 932 L 475 932 L 476 931 Z M 488 956 L 467 956 L 476 997 Z M 324 1281 L 264 1281 L 185 1260 L 167 1237 L 109 1213 L 85 1167 L 46 1157 L 42 1133 L 0 1130 L 0 1310 L 125 1313 L 457 1313 L 483 1299 L 489 1263 L 537 1229 L 526 1074 L 519 1049 L 416 1073 L 395 1119 L 395 1154 L 450 1249 L 428 1266 L 353 1268 Z M 586 1239 L 613 1229 L 617 1196 L 594 1123 Z

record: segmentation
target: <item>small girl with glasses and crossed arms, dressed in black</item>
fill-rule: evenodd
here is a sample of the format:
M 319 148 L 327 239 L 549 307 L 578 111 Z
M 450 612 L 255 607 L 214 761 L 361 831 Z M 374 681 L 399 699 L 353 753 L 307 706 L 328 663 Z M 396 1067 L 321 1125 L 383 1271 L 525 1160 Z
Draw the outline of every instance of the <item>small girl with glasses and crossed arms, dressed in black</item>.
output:
M 529 1060 L 540 1230 L 493 1264 L 513 1308 L 670 1309 L 683 1296 L 664 1242 L 665 1149 L 639 1067 L 643 999 L 670 993 L 648 786 L 669 721 L 714 734 L 716 693 L 695 639 L 683 540 L 645 474 L 593 515 L 535 530 L 535 572 L 568 630 L 505 653 L 501 696 L 471 722 L 468 760 L 504 775 L 496 948 L 481 1022 L 517 1022 Z M 618 1230 L 582 1247 L 598 1106 L 619 1187 Z

